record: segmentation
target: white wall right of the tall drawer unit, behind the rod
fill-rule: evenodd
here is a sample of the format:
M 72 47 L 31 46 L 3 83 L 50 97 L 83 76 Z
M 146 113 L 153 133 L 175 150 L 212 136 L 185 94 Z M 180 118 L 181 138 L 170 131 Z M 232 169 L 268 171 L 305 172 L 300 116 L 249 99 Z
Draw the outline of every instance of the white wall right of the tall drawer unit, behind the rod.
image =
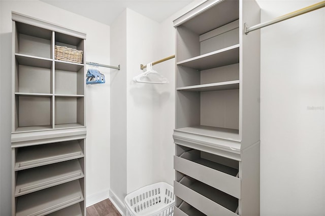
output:
M 317 2 L 258 3 L 263 22 Z M 323 8 L 261 30 L 264 216 L 325 215 L 324 18 Z

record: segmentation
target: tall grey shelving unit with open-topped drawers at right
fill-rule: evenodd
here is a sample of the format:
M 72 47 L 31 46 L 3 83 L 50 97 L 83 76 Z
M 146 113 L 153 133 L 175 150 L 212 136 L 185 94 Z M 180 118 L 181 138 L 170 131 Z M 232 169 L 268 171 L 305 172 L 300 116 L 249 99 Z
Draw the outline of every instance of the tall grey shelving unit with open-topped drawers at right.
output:
M 175 215 L 259 215 L 259 10 L 206 1 L 174 21 Z

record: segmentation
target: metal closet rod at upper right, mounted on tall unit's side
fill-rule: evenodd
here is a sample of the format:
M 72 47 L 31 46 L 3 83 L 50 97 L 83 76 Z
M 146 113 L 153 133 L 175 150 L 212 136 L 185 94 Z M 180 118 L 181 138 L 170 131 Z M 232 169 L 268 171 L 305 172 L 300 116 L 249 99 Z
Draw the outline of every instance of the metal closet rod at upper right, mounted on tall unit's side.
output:
M 247 24 L 245 23 L 245 34 L 248 34 L 251 31 L 266 27 L 268 25 L 272 25 L 272 24 L 277 23 L 277 22 L 281 22 L 283 20 L 293 18 L 293 17 L 299 16 L 299 15 L 302 15 L 302 14 L 305 14 L 305 13 L 308 13 L 308 12 L 311 12 L 311 11 L 314 11 L 314 10 L 317 10 L 317 9 L 320 9 L 320 8 L 323 8 L 323 7 L 325 7 L 325 1 L 319 2 L 319 3 L 311 5 L 311 6 L 308 6 L 306 8 L 302 8 L 302 9 L 300 9 L 298 11 L 294 11 L 294 12 L 285 14 L 283 16 L 272 19 L 272 20 L 270 20 L 268 22 L 263 22 L 263 23 L 260 23 L 260 24 L 257 24 L 257 25 L 253 25 L 251 27 L 248 27 Z

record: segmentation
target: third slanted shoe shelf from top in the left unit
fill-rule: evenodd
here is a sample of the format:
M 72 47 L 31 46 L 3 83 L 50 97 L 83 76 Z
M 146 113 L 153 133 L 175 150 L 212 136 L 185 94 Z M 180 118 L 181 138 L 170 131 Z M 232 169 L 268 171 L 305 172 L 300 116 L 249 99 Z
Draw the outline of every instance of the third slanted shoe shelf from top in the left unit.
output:
M 78 180 L 20 196 L 16 216 L 45 215 L 84 200 Z

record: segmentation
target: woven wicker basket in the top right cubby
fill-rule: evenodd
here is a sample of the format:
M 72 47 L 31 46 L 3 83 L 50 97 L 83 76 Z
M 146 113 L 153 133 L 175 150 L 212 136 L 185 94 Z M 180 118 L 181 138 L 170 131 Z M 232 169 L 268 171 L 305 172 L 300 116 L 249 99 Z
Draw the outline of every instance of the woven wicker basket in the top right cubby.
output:
M 54 56 L 56 60 L 82 63 L 82 50 L 76 50 L 69 47 L 55 45 Z

